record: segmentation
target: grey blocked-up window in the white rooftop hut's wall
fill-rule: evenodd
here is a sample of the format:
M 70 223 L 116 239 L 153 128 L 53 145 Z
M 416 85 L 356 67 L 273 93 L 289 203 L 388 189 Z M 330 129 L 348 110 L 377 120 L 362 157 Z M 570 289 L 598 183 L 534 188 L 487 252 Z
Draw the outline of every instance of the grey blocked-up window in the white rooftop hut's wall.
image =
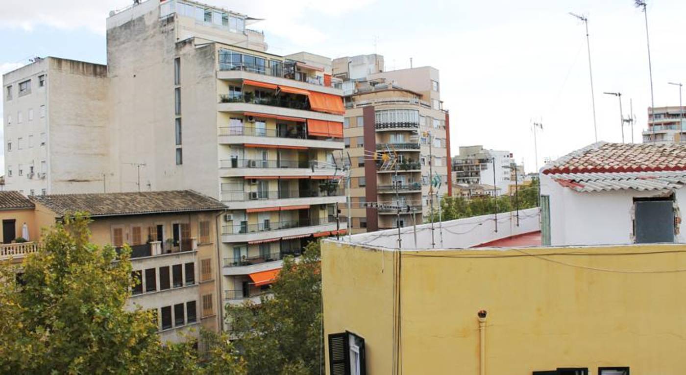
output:
M 674 202 L 666 198 L 634 198 L 636 243 L 674 242 Z

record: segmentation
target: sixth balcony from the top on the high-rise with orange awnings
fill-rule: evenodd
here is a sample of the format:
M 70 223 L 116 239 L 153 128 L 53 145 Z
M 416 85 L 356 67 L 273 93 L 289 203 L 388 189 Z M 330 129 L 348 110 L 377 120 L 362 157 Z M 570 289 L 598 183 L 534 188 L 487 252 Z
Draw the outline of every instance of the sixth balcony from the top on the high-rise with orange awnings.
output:
M 259 241 L 346 228 L 346 223 L 340 222 L 337 225 L 335 219 L 265 221 L 257 224 L 242 221 L 235 225 L 222 226 L 222 241 L 226 243 Z

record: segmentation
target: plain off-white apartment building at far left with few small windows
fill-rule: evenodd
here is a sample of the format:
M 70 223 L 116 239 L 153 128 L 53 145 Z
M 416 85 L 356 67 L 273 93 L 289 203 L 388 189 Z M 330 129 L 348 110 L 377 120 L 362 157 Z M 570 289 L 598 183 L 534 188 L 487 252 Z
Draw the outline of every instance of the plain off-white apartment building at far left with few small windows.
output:
M 103 191 L 108 83 L 104 65 L 51 57 L 3 75 L 4 189 Z

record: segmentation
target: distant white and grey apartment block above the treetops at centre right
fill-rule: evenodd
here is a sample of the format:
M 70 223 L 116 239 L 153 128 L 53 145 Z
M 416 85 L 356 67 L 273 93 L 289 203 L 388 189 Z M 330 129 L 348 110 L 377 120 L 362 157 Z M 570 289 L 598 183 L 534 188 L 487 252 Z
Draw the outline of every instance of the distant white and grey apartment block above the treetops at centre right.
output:
M 490 190 L 484 189 L 486 194 L 503 195 L 508 193 L 509 185 L 514 184 L 514 169 L 511 167 L 514 159 L 508 151 L 484 149 L 482 145 L 460 146 L 460 154 L 453 156 L 452 162 L 454 183 L 459 185 L 460 191 L 475 190 L 476 186 L 471 185 L 490 185 Z M 517 178 L 521 182 L 523 169 L 520 166 L 517 169 Z

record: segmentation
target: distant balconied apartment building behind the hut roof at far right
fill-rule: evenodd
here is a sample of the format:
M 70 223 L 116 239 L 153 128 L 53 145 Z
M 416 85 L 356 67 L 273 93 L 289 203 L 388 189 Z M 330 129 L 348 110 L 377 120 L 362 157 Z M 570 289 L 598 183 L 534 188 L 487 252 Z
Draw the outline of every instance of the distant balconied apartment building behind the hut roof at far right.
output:
M 684 112 L 686 107 L 679 106 L 659 107 L 653 111 L 648 108 L 648 129 L 643 130 L 643 143 L 686 143 Z

